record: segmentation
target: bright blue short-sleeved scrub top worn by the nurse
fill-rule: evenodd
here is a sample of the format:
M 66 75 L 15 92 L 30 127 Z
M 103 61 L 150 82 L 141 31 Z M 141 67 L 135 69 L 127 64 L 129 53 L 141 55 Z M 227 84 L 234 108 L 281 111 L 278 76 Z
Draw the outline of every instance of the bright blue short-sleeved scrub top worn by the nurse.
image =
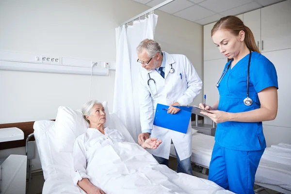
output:
M 227 70 L 219 84 L 218 110 L 229 113 L 240 113 L 260 108 L 258 93 L 263 89 L 275 86 L 278 80 L 275 66 L 265 56 L 252 52 L 249 69 L 249 97 L 253 104 L 246 106 L 243 99 L 247 97 L 247 65 L 249 54 L 234 67 Z M 227 65 L 226 63 L 225 69 Z M 229 149 L 252 151 L 266 148 L 262 122 L 227 121 L 217 124 L 215 141 Z

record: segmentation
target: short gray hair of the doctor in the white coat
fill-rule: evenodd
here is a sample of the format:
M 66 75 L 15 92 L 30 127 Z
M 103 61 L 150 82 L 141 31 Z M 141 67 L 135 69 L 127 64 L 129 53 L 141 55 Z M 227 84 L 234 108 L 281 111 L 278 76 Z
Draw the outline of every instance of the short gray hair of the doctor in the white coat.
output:
M 159 53 L 162 55 L 162 49 L 160 44 L 152 39 L 145 39 L 143 40 L 136 48 L 137 53 L 141 53 L 144 49 L 147 51 L 148 57 L 152 58 L 156 55 L 156 53 Z

